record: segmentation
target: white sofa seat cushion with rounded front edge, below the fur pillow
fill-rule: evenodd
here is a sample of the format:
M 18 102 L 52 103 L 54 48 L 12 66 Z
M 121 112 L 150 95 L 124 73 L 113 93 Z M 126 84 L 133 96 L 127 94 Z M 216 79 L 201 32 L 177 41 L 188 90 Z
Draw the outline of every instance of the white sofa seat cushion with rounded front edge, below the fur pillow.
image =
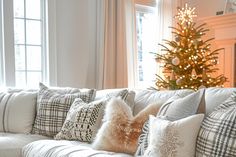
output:
M 40 140 L 23 147 L 23 157 L 131 157 L 128 154 L 98 151 L 91 144 L 67 140 Z

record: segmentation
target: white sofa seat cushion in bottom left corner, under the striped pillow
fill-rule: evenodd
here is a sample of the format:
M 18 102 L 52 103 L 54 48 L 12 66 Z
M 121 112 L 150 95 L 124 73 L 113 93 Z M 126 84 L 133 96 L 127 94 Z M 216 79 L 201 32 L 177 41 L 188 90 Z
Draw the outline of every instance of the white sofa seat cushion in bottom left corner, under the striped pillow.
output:
M 0 132 L 0 157 L 21 157 L 23 146 L 40 139 L 48 139 L 48 137 Z

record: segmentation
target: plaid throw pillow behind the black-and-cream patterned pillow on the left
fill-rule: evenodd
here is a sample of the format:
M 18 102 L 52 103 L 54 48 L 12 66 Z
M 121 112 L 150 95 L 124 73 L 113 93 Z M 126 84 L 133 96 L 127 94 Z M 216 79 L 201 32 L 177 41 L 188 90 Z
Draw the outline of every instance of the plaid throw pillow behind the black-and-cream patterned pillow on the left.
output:
M 62 94 L 56 90 L 40 84 L 37 99 L 37 114 L 32 133 L 44 136 L 54 136 L 60 130 L 65 121 L 68 110 L 76 98 L 81 98 L 88 103 L 93 100 L 95 90 Z

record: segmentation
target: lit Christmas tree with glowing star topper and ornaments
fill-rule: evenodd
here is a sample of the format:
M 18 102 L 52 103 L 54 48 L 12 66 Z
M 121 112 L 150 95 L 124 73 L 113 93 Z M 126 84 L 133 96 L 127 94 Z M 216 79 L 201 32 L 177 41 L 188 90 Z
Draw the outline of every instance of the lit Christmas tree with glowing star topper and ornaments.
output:
M 165 89 L 194 89 L 223 86 L 227 81 L 224 75 L 213 77 L 218 69 L 218 53 L 221 49 L 211 51 L 213 38 L 203 40 L 209 29 L 205 24 L 196 26 L 195 8 L 178 9 L 177 27 L 171 27 L 174 40 L 164 40 L 159 44 L 163 54 L 156 54 L 156 61 L 163 64 L 164 77 L 157 75 L 156 86 Z

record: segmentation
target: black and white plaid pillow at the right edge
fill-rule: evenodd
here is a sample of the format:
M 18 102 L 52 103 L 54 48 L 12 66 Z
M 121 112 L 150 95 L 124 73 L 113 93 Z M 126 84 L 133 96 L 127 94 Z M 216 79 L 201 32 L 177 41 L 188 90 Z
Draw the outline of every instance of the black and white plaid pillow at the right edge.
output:
M 236 156 L 236 92 L 203 121 L 196 157 Z

